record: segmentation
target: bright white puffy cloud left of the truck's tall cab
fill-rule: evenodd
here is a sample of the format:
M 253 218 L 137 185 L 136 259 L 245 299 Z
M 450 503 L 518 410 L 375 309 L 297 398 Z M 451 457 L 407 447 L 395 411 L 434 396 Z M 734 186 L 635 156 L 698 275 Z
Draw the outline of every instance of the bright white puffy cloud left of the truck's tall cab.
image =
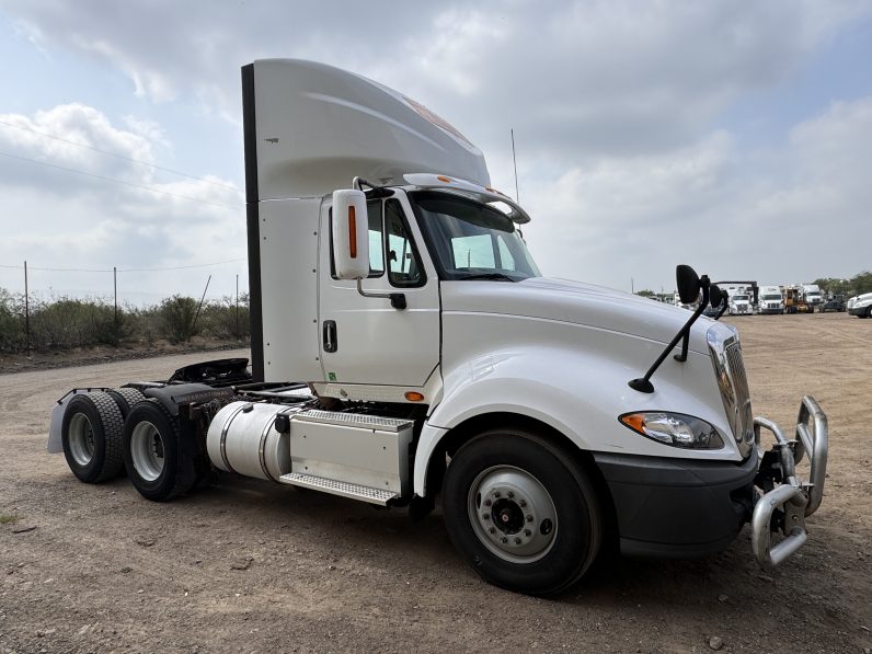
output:
M 150 164 L 156 141 L 171 146 L 159 125 L 128 119 L 134 134 L 82 104 L 0 121 L 14 126 L 0 130 L 0 150 L 21 158 L 0 157 L 0 261 L 124 269 L 245 257 L 239 190 L 216 176 L 159 180 Z M 74 284 L 71 275 L 55 275 L 54 286 Z M 139 280 L 142 290 L 175 292 L 180 280 L 169 282 L 159 289 L 165 276 Z

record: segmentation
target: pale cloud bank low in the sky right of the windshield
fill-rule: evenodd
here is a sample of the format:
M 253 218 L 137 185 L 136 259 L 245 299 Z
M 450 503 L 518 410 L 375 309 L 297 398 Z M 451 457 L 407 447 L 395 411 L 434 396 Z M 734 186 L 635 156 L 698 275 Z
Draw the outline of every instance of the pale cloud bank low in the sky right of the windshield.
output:
M 869 266 L 872 96 L 837 103 L 766 152 L 719 131 L 668 153 L 600 159 L 533 186 L 547 273 L 672 287 L 677 263 L 761 283 Z

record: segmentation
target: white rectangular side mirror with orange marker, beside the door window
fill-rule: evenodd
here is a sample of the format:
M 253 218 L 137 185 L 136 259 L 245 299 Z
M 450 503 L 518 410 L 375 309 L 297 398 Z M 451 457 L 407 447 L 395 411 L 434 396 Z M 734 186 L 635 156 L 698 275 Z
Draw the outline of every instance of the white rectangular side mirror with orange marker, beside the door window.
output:
M 369 217 L 363 191 L 333 192 L 333 265 L 340 279 L 369 276 Z

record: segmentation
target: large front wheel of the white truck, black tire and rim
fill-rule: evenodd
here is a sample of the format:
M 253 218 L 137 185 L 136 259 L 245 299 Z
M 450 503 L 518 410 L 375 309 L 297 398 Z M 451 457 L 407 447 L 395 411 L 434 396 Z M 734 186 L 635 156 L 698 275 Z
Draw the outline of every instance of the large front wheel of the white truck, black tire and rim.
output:
M 553 595 L 578 581 L 599 550 L 603 519 L 590 482 L 535 434 L 477 436 L 451 457 L 443 491 L 455 548 L 503 588 Z

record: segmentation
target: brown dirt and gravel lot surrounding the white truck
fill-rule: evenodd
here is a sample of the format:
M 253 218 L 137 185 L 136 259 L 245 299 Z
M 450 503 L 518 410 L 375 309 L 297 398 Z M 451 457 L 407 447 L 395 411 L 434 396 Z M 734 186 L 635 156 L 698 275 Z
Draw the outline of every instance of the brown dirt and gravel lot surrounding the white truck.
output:
M 558 599 L 490 586 L 438 510 L 225 478 L 169 504 L 126 479 L 79 483 L 45 451 L 73 386 L 165 378 L 203 354 L 0 376 L 0 652 L 856 652 L 872 647 L 872 320 L 737 324 L 754 410 L 792 429 L 827 412 L 826 493 L 810 539 L 761 571 L 747 528 L 697 561 L 604 557 Z M 239 356 L 243 351 L 221 356 Z

